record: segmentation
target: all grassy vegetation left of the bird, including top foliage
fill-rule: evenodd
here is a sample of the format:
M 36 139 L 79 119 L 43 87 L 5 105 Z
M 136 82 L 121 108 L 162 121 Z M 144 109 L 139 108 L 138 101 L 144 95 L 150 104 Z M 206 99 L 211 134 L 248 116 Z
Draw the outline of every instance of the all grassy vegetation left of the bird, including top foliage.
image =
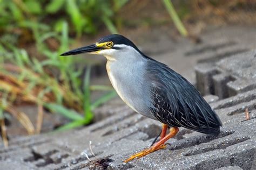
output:
M 91 66 L 86 59 L 83 60 L 86 75 L 82 77 L 83 70 L 75 67 L 76 59 L 59 54 L 67 51 L 74 42 L 70 35 L 79 38 L 84 33 L 96 34 L 103 28 L 117 33 L 115 14 L 126 3 L 127 0 L 2 0 L 0 119 L 4 117 L 3 110 L 8 111 L 29 133 L 33 133 L 33 127 L 26 126 L 32 124 L 28 117 L 13 109 L 17 101 L 23 101 L 43 105 L 51 112 L 70 119 L 70 123 L 60 130 L 91 123 L 93 110 L 116 96 L 116 92 L 112 87 L 91 86 Z M 43 60 L 17 47 L 27 43 L 24 39 L 35 44 L 37 54 L 43 56 Z M 49 48 L 46 43 L 49 39 L 58 42 L 57 50 Z M 51 70 L 55 70 L 58 76 L 52 76 Z M 92 90 L 102 90 L 105 94 L 91 101 Z M 4 94 L 8 97 L 3 98 Z

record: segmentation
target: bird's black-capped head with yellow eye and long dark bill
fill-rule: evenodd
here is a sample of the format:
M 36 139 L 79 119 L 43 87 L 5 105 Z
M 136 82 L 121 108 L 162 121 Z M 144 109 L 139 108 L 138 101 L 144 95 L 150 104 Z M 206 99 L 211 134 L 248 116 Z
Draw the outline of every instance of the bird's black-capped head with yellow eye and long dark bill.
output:
M 122 56 L 142 53 L 133 42 L 122 35 L 111 34 L 100 38 L 95 44 L 73 49 L 61 55 L 75 55 L 81 53 L 104 55 L 108 60 L 116 60 Z

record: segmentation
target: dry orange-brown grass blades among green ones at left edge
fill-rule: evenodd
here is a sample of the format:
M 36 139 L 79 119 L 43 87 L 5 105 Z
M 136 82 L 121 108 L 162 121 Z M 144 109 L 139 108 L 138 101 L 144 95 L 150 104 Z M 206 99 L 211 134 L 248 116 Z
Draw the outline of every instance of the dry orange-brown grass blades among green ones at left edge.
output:
M 77 104 L 80 103 L 79 99 L 70 95 L 71 92 L 69 89 L 66 89 L 63 84 L 58 83 L 54 77 L 49 76 L 48 80 L 45 81 L 42 78 L 43 75 L 39 75 L 28 68 L 20 68 L 11 64 L 4 64 L 1 67 L 8 72 L 0 73 L 0 98 L 3 100 L 5 93 L 8 97 L 6 97 L 5 102 L 0 101 L 0 105 L 2 105 L 5 111 L 9 112 L 24 126 L 28 134 L 40 133 L 41 131 L 43 122 L 42 102 L 56 102 L 56 96 L 52 91 L 44 93 L 44 90 L 49 85 L 51 86 L 51 84 L 55 84 L 55 86 L 57 86 L 58 93 L 61 93 L 64 97 L 65 105 L 82 112 L 83 109 L 80 107 L 80 104 Z M 22 73 L 29 73 L 30 76 L 26 76 L 23 80 L 19 80 L 18 75 L 21 75 Z M 36 84 L 32 88 L 28 88 L 31 83 L 31 79 L 36 79 L 40 84 Z M 42 93 L 44 94 L 42 95 Z M 42 96 L 42 100 L 40 100 L 38 96 Z M 15 107 L 16 105 L 26 103 L 38 105 L 36 130 L 29 117 L 24 112 L 18 111 Z M 1 119 L 1 129 L 4 145 L 8 146 L 4 119 Z

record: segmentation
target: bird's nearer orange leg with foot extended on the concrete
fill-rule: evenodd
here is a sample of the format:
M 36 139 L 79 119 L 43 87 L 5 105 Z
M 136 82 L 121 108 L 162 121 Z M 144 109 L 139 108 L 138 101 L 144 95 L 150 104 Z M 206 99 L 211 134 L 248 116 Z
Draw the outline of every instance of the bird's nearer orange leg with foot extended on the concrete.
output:
M 164 126 L 164 125 L 163 125 Z M 163 127 L 164 128 L 164 127 Z M 159 140 L 156 144 L 154 144 L 153 146 L 151 146 L 150 148 L 147 148 L 139 153 L 133 154 L 131 155 L 130 158 L 126 159 L 124 162 L 129 162 L 131 160 L 133 160 L 134 158 L 142 158 L 145 155 L 152 153 L 154 151 L 160 150 L 161 148 L 165 148 L 166 146 L 164 145 L 165 141 L 167 141 L 168 139 L 174 137 L 177 133 L 178 133 L 179 129 L 176 127 L 172 127 L 170 128 L 170 133 L 167 134 L 164 138 L 162 138 L 161 140 Z M 162 131 L 163 132 L 163 131 Z

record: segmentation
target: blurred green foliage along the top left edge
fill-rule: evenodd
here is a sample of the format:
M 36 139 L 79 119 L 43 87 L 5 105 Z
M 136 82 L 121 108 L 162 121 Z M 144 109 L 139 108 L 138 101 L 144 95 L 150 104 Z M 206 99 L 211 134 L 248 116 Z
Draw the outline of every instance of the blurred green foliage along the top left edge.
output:
M 101 30 L 102 23 L 111 33 L 117 33 L 113 24 L 115 14 L 126 2 L 127 0 L 2 0 L 0 33 L 17 33 L 18 30 L 19 35 L 28 36 L 28 31 L 35 24 L 44 32 L 61 32 L 63 22 L 69 23 L 70 33 L 75 32 L 77 37 L 82 36 L 82 33 L 95 34 Z

